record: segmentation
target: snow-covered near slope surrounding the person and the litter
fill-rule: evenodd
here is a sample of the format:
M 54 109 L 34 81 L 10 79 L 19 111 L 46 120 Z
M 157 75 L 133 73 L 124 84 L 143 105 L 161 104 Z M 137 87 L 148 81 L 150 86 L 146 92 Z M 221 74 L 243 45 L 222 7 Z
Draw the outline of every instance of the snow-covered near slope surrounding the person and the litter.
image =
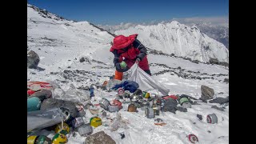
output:
M 73 22 L 64 18 L 54 19 L 54 14 L 48 13 L 50 18 L 28 5 L 28 49 L 34 50 L 40 57 L 38 64 L 41 69 L 27 70 L 28 81 L 51 81 L 58 83 L 63 90 L 74 84 L 79 90 L 94 83 L 101 85 L 114 74 L 113 54 L 109 52 L 113 36 L 106 31 L 99 30 L 89 22 Z M 155 41 L 157 42 L 157 41 Z M 79 62 L 85 58 L 85 62 Z M 228 78 L 229 70 L 225 66 L 194 63 L 182 58 L 174 58 L 159 54 L 149 54 L 150 70 L 153 78 L 162 82 L 170 89 L 170 94 L 188 94 L 194 98 L 201 97 L 200 87 L 210 86 L 214 89 L 214 98 L 229 96 L 229 85 L 224 82 Z M 158 93 L 157 91 L 155 93 Z M 115 91 L 95 90 L 95 99 L 113 100 Z M 177 111 L 176 114 L 165 112 L 156 118 L 162 118 L 166 126 L 155 126 L 154 119 L 145 117 L 144 111 L 138 113 L 127 112 L 128 104 L 123 104 L 120 110 L 122 118 L 129 123 L 125 129 L 126 138 L 121 139 L 118 131 L 110 131 L 110 126 L 94 128 L 94 133 L 104 130 L 116 143 L 189 143 L 187 134 L 198 136 L 199 143 L 229 143 L 229 106 L 225 111 L 219 111 L 211 106 L 221 106 L 214 103 L 198 102 L 188 112 Z M 207 114 L 217 114 L 218 124 L 208 124 Z M 110 114 L 115 118 L 114 113 Z M 199 121 L 196 114 L 202 114 Z M 94 116 L 86 110 L 86 122 Z M 109 122 L 102 118 L 103 122 Z M 210 132 L 209 132 L 210 131 Z M 93 134 L 94 134 L 93 133 Z M 42 130 L 49 138 L 53 131 Z M 83 143 L 86 137 L 68 136 L 68 143 Z

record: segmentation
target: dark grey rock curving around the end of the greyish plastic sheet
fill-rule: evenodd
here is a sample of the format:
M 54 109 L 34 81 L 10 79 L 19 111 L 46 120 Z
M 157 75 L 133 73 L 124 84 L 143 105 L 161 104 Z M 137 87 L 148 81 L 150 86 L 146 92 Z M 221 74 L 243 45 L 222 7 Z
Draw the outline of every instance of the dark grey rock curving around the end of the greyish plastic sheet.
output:
M 64 107 L 70 110 L 70 116 L 76 118 L 78 116 L 78 108 L 75 106 L 74 102 L 64 101 L 61 99 L 48 98 L 42 102 L 40 110 L 46 110 L 53 107 Z

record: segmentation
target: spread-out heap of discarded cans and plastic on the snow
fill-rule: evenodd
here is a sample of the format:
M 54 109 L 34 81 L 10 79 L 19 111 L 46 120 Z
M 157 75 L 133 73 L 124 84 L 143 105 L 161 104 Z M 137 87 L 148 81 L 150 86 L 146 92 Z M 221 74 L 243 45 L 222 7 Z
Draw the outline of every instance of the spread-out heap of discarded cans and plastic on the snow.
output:
M 86 93 L 77 90 L 73 84 L 70 84 L 70 88 L 64 91 L 54 82 L 28 82 L 27 131 L 30 132 L 55 126 L 55 129 L 51 129 L 54 129 L 56 133 L 52 140 L 46 136 L 30 134 L 27 138 L 28 143 L 36 143 L 39 140 L 42 143 L 47 143 L 49 140 L 50 143 L 66 143 L 68 142 L 67 138 L 74 135 L 74 131 L 78 132 L 82 137 L 87 137 L 86 143 L 103 142 L 105 139 L 101 138 L 105 136 L 108 138 L 110 136 L 103 131 L 92 134 L 94 128 L 102 125 L 106 126 L 102 128 L 109 129 L 110 131 L 119 130 L 118 134 L 123 139 L 125 134 L 120 129 L 128 128 L 127 124 L 129 123 L 118 112 L 123 106 L 125 111 L 127 110 L 128 112 L 139 112 L 138 109 L 144 110 L 146 118 L 155 118 L 160 115 L 160 112 L 166 111 L 174 114 L 176 110 L 187 112 L 187 108 L 191 108 L 191 103 L 193 102 L 190 100 L 190 96 L 186 94 L 182 94 L 182 96 L 168 95 L 169 90 L 164 86 L 158 85 L 157 81 L 148 77 L 148 75 L 142 74 L 139 70 L 135 71 L 132 73 L 133 78 L 144 79 L 137 79 L 138 82 L 135 82 L 132 80 L 119 81 L 112 78 L 109 81 L 105 81 L 102 86 L 98 86 L 97 83 L 96 85 L 91 84 L 90 88 L 88 87 L 89 89 L 85 90 Z M 148 82 L 149 86 L 145 86 L 145 82 Z M 98 88 L 110 90 L 112 91 L 111 93 L 116 95 L 110 95 L 114 96 L 111 100 L 108 100 L 110 97 L 98 98 L 98 94 L 102 94 Z M 154 90 L 159 90 L 163 96 L 155 94 Z M 125 103 L 127 103 L 128 107 L 126 107 Z M 212 108 L 216 107 L 212 106 Z M 86 123 L 83 119 L 86 116 L 85 110 L 89 110 L 94 115 L 92 118 L 90 118 L 91 116 L 89 117 L 89 123 Z M 117 114 L 116 118 L 114 118 L 114 114 Z M 202 121 L 202 115 L 197 114 L 197 118 Z M 209 114 L 206 119 L 208 123 L 218 123 L 216 114 Z M 193 123 L 195 124 L 195 122 Z M 163 122 L 161 118 L 156 118 L 154 119 L 154 125 L 165 126 L 166 122 Z M 99 137 L 101 138 L 98 139 Z M 194 134 L 188 135 L 188 138 L 192 143 L 198 142 L 198 138 Z M 115 143 L 111 139 L 110 143 Z

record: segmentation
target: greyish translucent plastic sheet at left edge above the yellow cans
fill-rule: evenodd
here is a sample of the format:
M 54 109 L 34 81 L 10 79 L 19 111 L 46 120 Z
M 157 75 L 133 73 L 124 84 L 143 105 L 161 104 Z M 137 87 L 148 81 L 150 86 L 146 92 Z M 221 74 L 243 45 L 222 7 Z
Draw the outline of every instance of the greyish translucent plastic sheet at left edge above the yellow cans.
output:
M 27 113 L 27 132 L 54 126 L 64 120 L 65 115 L 57 107 L 48 110 L 31 111 Z

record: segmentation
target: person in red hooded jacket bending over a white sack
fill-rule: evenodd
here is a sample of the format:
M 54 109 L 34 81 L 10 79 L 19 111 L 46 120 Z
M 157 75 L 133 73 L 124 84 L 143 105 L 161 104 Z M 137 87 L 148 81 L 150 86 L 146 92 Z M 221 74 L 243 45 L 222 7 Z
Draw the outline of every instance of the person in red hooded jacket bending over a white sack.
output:
M 114 54 L 116 74 L 117 71 L 122 73 L 129 70 L 134 65 L 134 62 L 136 62 L 142 70 L 151 75 L 149 62 L 146 57 L 146 47 L 138 41 L 137 36 L 138 34 L 132 34 L 128 37 L 118 35 L 114 38 L 110 52 Z M 120 66 L 122 61 L 126 62 L 126 68 Z

